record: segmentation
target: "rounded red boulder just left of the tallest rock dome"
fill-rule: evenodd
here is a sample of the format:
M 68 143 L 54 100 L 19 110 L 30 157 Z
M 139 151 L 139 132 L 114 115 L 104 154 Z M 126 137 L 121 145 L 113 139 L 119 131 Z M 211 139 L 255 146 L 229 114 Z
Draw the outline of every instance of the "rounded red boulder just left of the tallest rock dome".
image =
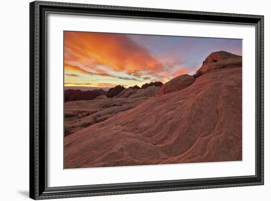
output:
M 188 87 L 189 85 L 191 85 L 194 81 L 195 81 L 195 78 L 187 74 L 178 76 L 166 82 L 160 88 L 158 95 L 165 95 L 168 93 L 182 90 Z

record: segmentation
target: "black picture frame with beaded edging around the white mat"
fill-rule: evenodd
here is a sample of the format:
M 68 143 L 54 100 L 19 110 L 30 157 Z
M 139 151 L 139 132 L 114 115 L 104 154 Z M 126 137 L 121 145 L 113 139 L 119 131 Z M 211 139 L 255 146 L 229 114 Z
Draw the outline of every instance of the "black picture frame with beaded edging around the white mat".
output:
M 48 13 L 254 25 L 256 28 L 255 175 L 87 186 L 47 187 L 46 17 Z M 263 184 L 264 16 L 48 1 L 34 1 L 30 3 L 30 198 L 41 200 Z

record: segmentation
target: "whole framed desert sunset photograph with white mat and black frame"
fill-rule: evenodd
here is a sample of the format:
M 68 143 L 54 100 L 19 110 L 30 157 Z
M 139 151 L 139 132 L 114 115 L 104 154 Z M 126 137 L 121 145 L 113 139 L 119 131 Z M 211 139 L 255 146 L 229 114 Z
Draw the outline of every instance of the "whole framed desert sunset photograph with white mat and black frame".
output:
M 30 3 L 30 198 L 264 184 L 264 16 Z

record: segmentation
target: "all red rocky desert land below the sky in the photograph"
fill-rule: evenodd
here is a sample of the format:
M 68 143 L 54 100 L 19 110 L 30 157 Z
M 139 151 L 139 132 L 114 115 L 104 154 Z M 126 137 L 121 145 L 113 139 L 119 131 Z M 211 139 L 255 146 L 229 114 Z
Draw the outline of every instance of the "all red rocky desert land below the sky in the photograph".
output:
M 66 101 L 64 167 L 242 160 L 241 67 L 213 52 L 193 76 Z

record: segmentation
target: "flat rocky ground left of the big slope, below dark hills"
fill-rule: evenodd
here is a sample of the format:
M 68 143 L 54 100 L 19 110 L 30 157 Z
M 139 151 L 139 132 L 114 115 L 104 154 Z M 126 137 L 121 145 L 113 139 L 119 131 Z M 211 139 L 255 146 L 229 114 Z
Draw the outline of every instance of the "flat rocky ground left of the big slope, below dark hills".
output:
M 65 136 L 130 110 L 147 99 L 148 97 L 133 99 L 106 97 L 88 101 L 69 101 L 65 103 Z

